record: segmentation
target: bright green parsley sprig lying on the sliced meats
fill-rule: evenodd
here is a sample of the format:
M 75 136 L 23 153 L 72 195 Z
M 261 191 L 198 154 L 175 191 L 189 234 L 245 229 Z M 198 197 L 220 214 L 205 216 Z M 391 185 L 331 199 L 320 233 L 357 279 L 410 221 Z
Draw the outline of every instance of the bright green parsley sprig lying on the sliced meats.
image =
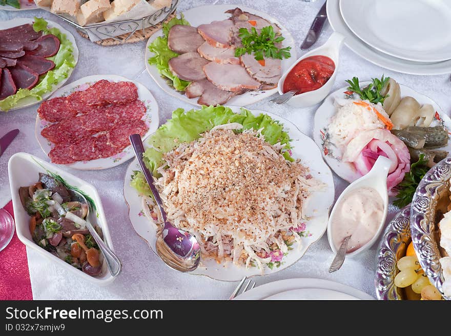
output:
M 263 60 L 264 57 L 268 58 L 290 58 L 291 47 L 277 48 L 276 43 L 282 42 L 285 38 L 282 35 L 276 36 L 273 26 L 263 27 L 260 34 L 255 27 L 251 27 L 250 30 L 246 28 L 240 28 L 238 36 L 241 38 L 242 48 L 235 49 L 235 56 L 239 57 L 245 53 L 254 53 L 257 61 Z

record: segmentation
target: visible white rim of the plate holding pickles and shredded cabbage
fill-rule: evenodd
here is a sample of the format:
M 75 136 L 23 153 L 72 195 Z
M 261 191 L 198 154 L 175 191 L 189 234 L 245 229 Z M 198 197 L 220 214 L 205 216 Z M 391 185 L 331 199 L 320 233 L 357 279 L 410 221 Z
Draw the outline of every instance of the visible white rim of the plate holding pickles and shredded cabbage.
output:
M 360 83 L 361 86 L 365 86 L 367 84 L 370 84 L 370 82 Z M 424 94 L 418 93 L 417 91 L 405 85 L 400 84 L 399 86 L 401 88 L 401 97 L 414 97 L 420 104 L 432 105 L 434 109 L 439 113 L 442 121 L 435 120 L 431 124 L 432 126 L 437 126 L 443 123 L 443 125 L 446 126 L 448 130 L 451 130 L 451 119 L 445 113 L 443 113 L 440 106 L 438 106 L 431 98 L 425 96 Z M 337 112 L 337 108 L 334 106 L 335 98 L 344 98 L 344 91 L 346 91 L 346 87 L 343 87 L 331 93 L 325 98 L 324 102 L 316 110 L 313 126 L 313 139 L 315 140 L 315 143 L 319 146 L 319 148 L 321 148 L 322 156 L 324 157 L 324 160 L 329 165 L 329 167 L 331 167 L 331 169 L 343 180 L 351 183 L 357 180 L 360 175 L 355 171 L 352 164 L 336 159 L 333 155 L 332 144 L 324 142 L 324 140 L 326 140 L 327 127 L 329 127 L 332 116 Z M 451 142 L 448 141 L 447 146 L 437 149 L 446 150 L 451 153 Z

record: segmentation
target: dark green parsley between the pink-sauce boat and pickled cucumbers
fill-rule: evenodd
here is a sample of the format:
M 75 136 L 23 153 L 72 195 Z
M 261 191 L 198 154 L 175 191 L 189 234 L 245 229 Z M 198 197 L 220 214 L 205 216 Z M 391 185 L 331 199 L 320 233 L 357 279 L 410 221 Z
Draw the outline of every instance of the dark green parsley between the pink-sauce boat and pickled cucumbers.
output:
M 398 184 L 398 194 L 396 195 L 396 200 L 393 202 L 393 205 L 398 208 L 403 208 L 412 202 L 418 184 L 424 174 L 429 170 L 426 163 L 427 160 L 424 159 L 424 154 L 420 154 L 418 161 L 411 165 L 411 170 L 405 174 L 404 180 Z

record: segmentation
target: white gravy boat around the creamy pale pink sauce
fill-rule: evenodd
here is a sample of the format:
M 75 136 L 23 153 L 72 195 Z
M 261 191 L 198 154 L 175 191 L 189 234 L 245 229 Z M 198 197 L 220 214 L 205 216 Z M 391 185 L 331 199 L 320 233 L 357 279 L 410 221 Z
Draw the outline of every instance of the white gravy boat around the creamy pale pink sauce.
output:
M 331 249 L 334 252 L 334 255 L 337 254 L 337 248 L 335 247 L 334 240 L 333 240 L 334 228 L 332 226 L 332 219 L 334 218 L 335 212 L 337 210 L 337 205 L 340 204 L 340 202 L 342 201 L 343 197 L 346 194 L 348 194 L 349 192 L 351 192 L 353 190 L 356 190 L 356 189 L 359 189 L 362 187 L 368 187 L 368 188 L 375 189 L 382 198 L 384 210 L 383 210 L 381 221 L 379 223 L 379 227 L 378 227 L 375 235 L 373 236 L 373 238 L 369 242 L 367 242 L 366 244 L 364 244 L 363 246 L 358 248 L 357 250 L 350 252 L 350 253 L 346 253 L 346 258 L 355 256 L 355 255 L 359 254 L 360 252 L 367 250 L 379 238 L 379 235 L 381 234 L 382 229 L 385 224 L 385 219 L 387 217 L 387 208 L 388 208 L 387 175 L 388 175 L 388 170 L 389 170 L 391 164 L 392 164 L 392 161 L 387 159 L 385 156 L 380 155 L 377 158 L 373 168 L 371 168 L 371 170 L 366 175 L 363 175 L 362 177 L 360 177 L 359 179 L 357 179 L 356 181 L 354 181 L 353 183 L 348 185 L 343 190 L 341 195 L 338 197 L 337 202 L 335 202 L 334 208 L 332 209 L 331 215 L 329 216 L 329 221 L 327 222 L 327 240 L 329 240 L 329 245 L 331 246 Z

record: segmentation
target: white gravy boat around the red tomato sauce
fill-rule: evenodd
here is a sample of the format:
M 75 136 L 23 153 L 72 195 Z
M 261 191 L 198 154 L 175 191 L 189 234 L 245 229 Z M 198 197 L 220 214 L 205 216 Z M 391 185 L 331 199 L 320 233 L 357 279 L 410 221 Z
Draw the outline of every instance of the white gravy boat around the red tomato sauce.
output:
M 293 65 L 287 71 L 285 71 L 282 77 L 280 77 L 279 83 L 277 84 L 279 94 L 283 94 L 283 83 L 285 82 L 286 76 L 290 73 L 291 69 L 293 69 L 304 58 L 315 55 L 322 55 L 331 58 L 331 60 L 334 61 L 335 63 L 335 71 L 332 74 L 331 78 L 329 78 L 329 81 L 326 82 L 326 84 L 324 84 L 319 89 L 292 96 L 290 100 L 287 102 L 287 104 L 293 107 L 308 107 L 318 104 L 326 97 L 327 94 L 329 94 L 329 92 L 332 89 L 332 86 L 334 85 L 335 77 L 337 76 L 337 70 L 339 65 L 338 55 L 341 44 L 343 43 L 343 39 L 344 35 L 337 32 L 333 32 L 332 35 L 329 37 L 329 39 L 327 39 L 326 43 L 324 43 L 322 46 L 316 49 L 313 49 L 303 54 L 301 57 L 298 58 L 296 62 L 293 63 Z

